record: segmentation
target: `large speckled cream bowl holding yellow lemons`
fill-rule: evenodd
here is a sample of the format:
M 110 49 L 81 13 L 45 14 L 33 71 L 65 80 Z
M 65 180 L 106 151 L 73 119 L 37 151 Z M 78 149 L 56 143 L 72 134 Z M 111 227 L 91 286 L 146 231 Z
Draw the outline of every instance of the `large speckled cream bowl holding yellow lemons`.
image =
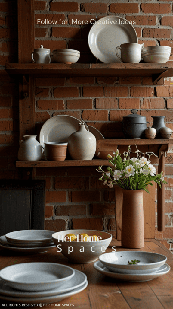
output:
M 101 236 L 102 239 L 94 242 L 63 242 L 63 238 L 67 234 L 79 235 L 85 233 L 88 236 Z M 58 239 L 59 237 L 59 239 Z M 98 259 L 98 257 L 107 249 L 112 240 L 112 235 L 107 232 L 95 231 L 95 230 L 69 230 L 54 233 L 52 235 L 54 244 L 57 246 L 58 250 L 66 256 L 70 262 L 73 263 L 91 263 Z M 81 249 L 81 251 L 80 251 Z M 83 251 L 84 250 L 84 251 Z

